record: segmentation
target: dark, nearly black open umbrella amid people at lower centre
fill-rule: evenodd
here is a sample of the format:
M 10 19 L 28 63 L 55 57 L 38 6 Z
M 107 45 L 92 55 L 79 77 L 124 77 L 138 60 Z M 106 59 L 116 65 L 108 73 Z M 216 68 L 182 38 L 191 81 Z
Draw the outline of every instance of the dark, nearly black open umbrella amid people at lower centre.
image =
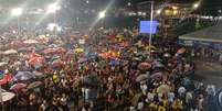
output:
M 99 86 L 102 84 L 102 80 L 97 75 L 88 75 L 83 78 L 83 84 Z

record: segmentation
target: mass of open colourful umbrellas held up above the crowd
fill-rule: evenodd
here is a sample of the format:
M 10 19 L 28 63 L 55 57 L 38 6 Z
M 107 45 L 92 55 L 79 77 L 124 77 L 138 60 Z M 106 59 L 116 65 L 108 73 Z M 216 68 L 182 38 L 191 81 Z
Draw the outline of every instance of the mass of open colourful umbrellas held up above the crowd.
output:
M 119 40 L 119 36 L 117 37 Z M 123 38 L 124 40 L 124 38 Z M 0 70 L 2 79 L 0 85 L 2 101 L 9 101 L 13 99 L 18 93 L 25 90 L 36 90 L 44 86 L 44 78 L 49 77 L 42 68 L 46 67 L 53 73 L 61 71 L 62 67 L 66 65 L 77 64 L 80 67 L 88 64 L 87 62 L 95 63 L 94 67 L 105 66 L 107 63 L 109 66 L 124 66 L 127 65 L 127 59 L 134 60 L 133 64 L 138 65 L 137 68 L 142 73 L 136 75 L 136 82 L 146 82 L 147 80 L 160 81 L 165 79 L 166 68 L 162 59 L 152 58 L 152 55 L 148 55 L 147 48 L 152 48 L 152 53 L 158 51 L 155 46 L 148 46 L 144 49 L 138 49 L 141 43 L 133 44 L 128 40 L 117 41 L 110 43 L 109 46 L 105 46 L 105 42 L 99 43 L 98 46 L 76 45 L 72 48 L 64 47 L 64 41 L 57 38 L 51 41 L 49 37 L 35 37 L 35 38 L 9 38 L 3 41 L 6 45 L 0 46 Z M 92 49 L 93 48 L 93 49 Z M 130 51 L 130 52 L 129 52 Z M 172 55 L 166 53 L 162 55 L 165 58 L 180 59 L 181 55 L 186 53 L 186 48 L 179 48 L 178 52 Z M 133 55 L 131 55 L 133 54 Z M 99 59 L 99 60 L 95 60 Z M 94 62 L 95 60 L 95 62 Z M 152 69 L 154 71 L 147 71 Z M 63 70 L 64 71 L 64 70 Z M 63 75 L 54 76 L 53 80 L 56 81 Z M 103 84 L 102 78 L 91 73 L 89 75 L 82 75 L 81 81 L 83 85 L 91 85 L 101 87 Z M 189 82 L 189 80 L 188 80 Z M 4 90 L 4 86 L 9 86 Z M 171 86 L 167 84 L 156 84 L 157 92 L 166 93 L 171 90 Z

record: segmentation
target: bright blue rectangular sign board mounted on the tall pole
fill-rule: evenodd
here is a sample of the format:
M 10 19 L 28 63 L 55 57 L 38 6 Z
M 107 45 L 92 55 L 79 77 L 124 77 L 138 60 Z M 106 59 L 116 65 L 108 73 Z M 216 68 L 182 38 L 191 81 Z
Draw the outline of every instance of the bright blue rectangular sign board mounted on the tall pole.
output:
M 150 30 L 151 21 L 140 21 L 139 33 L 157 33 L 157 21 L 152 21 L 152 26 Z

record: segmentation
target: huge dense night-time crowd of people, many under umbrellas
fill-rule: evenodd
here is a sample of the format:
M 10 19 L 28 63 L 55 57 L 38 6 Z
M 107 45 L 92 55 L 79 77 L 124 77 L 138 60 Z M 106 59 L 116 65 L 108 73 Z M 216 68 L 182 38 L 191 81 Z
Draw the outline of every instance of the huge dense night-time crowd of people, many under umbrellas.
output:
M 9 36 L 10 35 L 10 36 Z M 81 41 L 80 41 L 81 40 Z M 215 88 L 193 81 L 183 47 L 135 31 L 1 36 L 4 111 L 204 111 Z M 155 42 L 154 42 L 155 43 Z M 9 76 L 10 75 L 10 76 Z M 6 79 L 8 77 L 8 79 Z M 211 110 L 213 111 L 213 110 Z

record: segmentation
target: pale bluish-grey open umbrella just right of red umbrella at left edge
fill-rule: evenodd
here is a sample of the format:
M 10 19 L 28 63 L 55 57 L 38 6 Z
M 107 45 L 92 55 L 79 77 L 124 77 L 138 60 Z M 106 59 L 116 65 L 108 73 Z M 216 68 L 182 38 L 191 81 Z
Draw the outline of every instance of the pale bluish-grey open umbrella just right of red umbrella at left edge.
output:
M 18 74 L 13 77 L 13 80 L 29 80 L 33 78 L 35 78 L 35 76 L 30 71 L 18 71 Z

